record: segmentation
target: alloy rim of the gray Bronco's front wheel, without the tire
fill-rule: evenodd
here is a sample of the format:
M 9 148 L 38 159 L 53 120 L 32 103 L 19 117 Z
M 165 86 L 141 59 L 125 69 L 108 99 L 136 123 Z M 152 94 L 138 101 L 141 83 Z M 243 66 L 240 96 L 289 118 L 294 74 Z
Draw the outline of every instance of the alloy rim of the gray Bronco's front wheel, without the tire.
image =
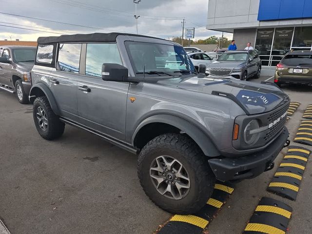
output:
M 161 195 L 179 200 L 191 188 L 191 179 L 183 164 L 172 156 L 158 156 L 150 166 L 152 182 Z

